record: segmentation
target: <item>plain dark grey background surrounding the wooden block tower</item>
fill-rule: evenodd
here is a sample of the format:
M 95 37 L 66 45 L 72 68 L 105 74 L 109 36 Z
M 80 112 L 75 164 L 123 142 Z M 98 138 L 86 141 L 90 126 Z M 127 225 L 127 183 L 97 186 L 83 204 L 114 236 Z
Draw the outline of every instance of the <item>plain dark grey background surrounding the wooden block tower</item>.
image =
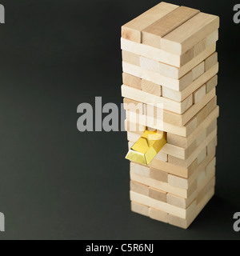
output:
M 120 27 L 148 0 L 0 0 L 0 239 L 230 239 L 239 192 L 239 30 L 231 1 L 171 1 L 221 18 L 216 195 L 189 230 L 130 212 L 126 133 L 77 130 L 77 106 L 122 102 Z

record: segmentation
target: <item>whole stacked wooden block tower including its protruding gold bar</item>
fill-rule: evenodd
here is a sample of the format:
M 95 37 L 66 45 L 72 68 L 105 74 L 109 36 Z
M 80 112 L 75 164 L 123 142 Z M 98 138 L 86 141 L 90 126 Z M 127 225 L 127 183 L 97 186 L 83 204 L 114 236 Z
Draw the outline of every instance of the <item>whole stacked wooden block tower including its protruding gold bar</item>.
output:
M 131 209 L 182 228 L 214 195 L 218 27 L 166 2 L 122 26 Z

